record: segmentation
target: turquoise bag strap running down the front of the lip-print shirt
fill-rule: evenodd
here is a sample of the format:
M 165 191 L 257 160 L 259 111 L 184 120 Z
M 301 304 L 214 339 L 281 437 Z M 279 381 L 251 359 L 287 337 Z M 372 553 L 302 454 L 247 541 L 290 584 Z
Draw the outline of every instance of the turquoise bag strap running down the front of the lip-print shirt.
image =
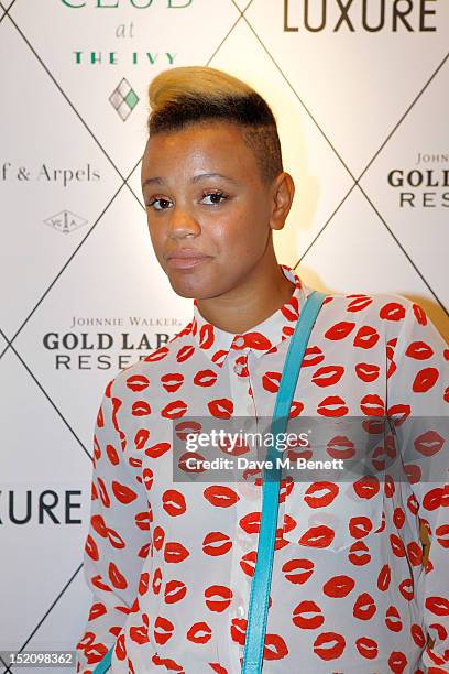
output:
M 274 406 L 271 424 L 273 436 L 284 433 L 287 426 L 292 399 L 295 393 L 304 352 L 307 348 L 311 328 L 325 300 L 326 295 L 324 293 L 313 291 L 307 296 L 299 312 L 299 318 L 288 347 Z M 251 583 L 242 674 L 260 674 L 263 665 L 282 470 L 276 465 L 276 454 L 278 456 L 276 445 L 277 442 L 270 446 L 266 456 L 266 461 L 273 461 L 273 468 L 267 469 L 265 466 L 263 474 L 261 526 L 256 564 Z

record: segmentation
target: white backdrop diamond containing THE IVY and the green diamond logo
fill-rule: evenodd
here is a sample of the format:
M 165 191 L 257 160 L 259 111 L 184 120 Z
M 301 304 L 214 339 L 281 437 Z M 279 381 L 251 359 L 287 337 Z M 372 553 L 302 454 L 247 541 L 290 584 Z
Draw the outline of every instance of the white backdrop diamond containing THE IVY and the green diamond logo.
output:
M 30 12 L 26 0 L 15 0 L 11 17 L 125 175 L 135 166 L 146 138 L 149 80 L 171 65 L 204 65 L 240 19 L 240 11 L 231 0 L 196 1 L 187 10 L 167 10 L 167 2 L 153 2 L 144 10 L 133 8 L 129 0 L 121 2 L 118 10 L 92 8 L 95 4 L 87 1 L 86 9 L 69 10 L 63 2 L 40 0 L 37 13 Z M 195 35 L 200 26 L 207 30 L 201 30 L 201 40 L 187 37 L 183 45 L 179 21 L 186 36 Z M 116 36 L 118 23 L 129 28 L 131 22 L 132 37 L 128 33 Z M 47 36 L 48 25 L 52 40 Z M 141 101 L 125 124 L 108 100 L 122 77 Z

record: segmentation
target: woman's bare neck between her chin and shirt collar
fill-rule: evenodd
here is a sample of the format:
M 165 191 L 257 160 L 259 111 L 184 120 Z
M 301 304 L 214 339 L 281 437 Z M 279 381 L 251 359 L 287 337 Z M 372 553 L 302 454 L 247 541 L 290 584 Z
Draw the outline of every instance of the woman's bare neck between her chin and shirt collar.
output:
M 273 256 L 266 269 L 256 268 L 237 289 L 197 300 L 201 316 L 221 330 L 242 334 L 280 309 L 295 291 Z

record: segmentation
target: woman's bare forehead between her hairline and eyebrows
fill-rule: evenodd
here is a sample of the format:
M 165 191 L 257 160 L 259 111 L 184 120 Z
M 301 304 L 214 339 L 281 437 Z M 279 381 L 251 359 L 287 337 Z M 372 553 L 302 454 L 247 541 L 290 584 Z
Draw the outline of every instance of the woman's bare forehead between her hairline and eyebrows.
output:
M 254 154 L 243 140 L 241 127 L 227 121 L 207 121 L 150 137 L 142 173 L 166 164 L 202 165 L 205 162 L 245 170 L 250 164 L 255 168 Z

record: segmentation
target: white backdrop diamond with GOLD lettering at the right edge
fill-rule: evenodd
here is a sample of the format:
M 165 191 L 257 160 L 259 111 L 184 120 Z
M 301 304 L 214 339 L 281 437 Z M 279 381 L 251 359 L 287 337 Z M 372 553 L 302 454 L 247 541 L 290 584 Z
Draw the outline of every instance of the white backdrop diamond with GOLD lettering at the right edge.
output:
M 443 161 L 448 151 L 442 146 L 449 102 L 441 91 L 448 90 L 449 58 L 446 56 L 417 105 L 360 181 L 441 307 L 449 307 L 447 250 L 441 246 L 448 231 L 448 216 L 441 217 L 445 204 L 446 211 L 449 210 L 449 198 L 442 197 L 445 193 L 449 197 L 448 164 Z M 404 287 L 408 286 L 404 284 Z

